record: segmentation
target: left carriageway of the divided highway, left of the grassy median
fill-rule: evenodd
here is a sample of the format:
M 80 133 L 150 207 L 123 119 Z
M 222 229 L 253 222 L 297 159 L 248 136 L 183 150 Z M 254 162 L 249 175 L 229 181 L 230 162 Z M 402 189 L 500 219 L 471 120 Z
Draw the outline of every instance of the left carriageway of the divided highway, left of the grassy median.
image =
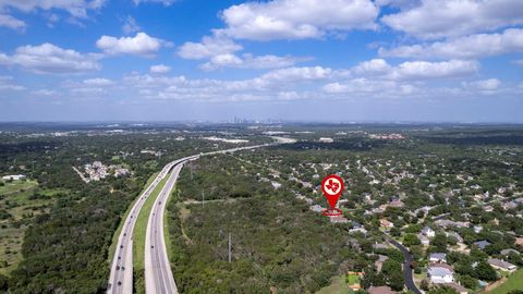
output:
M 117 248 L 114 250 L 114 257 L 111 262 L 111 273 L 109 277 L 109 284 L 107 293 L 120 294 L 132 293 L 133 291 L 133 253 L 132 253 L 132 236 L 134 225 L 136 223 L 136 217 L 139 210 L 144 206 L 145 200 L 155 191 L 161 180 L 169 174 L 169 171 L 173 166 L 178 164 L 180 160 L 168 163 L 160 173 L 156 176 L 155 181 L 139 195 L 138 199 L 134 203 L 125 222 L 123 224 L 120 236 L 118 237 Z

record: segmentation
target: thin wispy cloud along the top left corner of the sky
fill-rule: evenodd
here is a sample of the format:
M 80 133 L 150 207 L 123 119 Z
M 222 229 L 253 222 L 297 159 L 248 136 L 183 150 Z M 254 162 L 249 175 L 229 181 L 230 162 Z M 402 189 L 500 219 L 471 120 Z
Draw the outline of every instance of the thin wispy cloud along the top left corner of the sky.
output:
M 105 0 L 2 0 L 0 11 L 16 9 L 22 12 L 32 12 L 38 9 L 46 11 L 60 9 L 68 11 L 74 17 L 85 19 L 88 10 L 100 9 L 105 2 Z

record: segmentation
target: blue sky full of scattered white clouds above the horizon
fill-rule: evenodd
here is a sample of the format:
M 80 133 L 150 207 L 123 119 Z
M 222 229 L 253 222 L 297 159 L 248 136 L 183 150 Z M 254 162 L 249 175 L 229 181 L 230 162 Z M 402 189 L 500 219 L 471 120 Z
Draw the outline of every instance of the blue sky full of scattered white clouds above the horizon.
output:
M 0 0 L 0 121 L 522 113 L 521 0 Z

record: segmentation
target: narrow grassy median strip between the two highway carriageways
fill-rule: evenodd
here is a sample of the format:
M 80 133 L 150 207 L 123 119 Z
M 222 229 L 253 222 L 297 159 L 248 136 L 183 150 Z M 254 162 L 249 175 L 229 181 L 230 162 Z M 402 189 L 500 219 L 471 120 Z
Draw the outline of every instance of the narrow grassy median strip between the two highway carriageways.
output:
M 145 234 L 147 232 L 147 222 L 149 220 L 149 213 L 150 210 L 153 209 L 153 205 L 155 204 L 156 198 L 158 197 L 158 194 L 160 194 L 161 188 L 167 182 L 167 179 L 169 177 L 166 176 L 161 182 L 156 186 L 155 191 L 150 194 L 150 196 L 145 200 L 144 206 L 142 207 L 142 210 L 138 213 L 138 218 L 136 219 L 136 224 L 134 228 L 134 233 L 133 233 L 133 266 L 134 266 L 134 271 L 136 272 L 136 280 L 135 285 L 136 285 L 136 293 L 145 293 L 145 289 L 143 289 L 144 285 L 144 252 L 145 252 Z

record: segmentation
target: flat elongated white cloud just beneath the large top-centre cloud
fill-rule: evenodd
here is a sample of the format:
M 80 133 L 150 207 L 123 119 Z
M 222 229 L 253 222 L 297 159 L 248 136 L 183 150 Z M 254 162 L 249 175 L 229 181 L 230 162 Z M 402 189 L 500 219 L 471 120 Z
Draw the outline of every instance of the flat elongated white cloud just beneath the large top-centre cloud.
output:
M 202 65 L 202 69 L 206 71 L 214 71 L 220 68 L 236 68 L 236 69 L 280 69 L 292 66 L 300 61 L 308 59 L 300 59 L 294 57 L 278 57 L 278 56 L 253 56 L 243 54 L 238 57 L 234 54 L 219 54 L 212 57 L 208 62 Z

